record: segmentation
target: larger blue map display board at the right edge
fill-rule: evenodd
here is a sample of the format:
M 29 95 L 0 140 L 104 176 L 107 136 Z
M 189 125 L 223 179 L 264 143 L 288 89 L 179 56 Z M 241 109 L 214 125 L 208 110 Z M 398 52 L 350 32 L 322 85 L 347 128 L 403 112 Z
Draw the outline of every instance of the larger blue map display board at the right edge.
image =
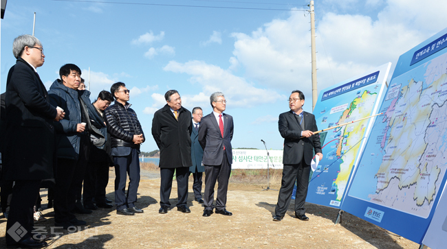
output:
M 447 168 L 447 29 L 400 56 L 342 210 L 417 243 Z M 428 54 L 429 56 L 425 56 Z

